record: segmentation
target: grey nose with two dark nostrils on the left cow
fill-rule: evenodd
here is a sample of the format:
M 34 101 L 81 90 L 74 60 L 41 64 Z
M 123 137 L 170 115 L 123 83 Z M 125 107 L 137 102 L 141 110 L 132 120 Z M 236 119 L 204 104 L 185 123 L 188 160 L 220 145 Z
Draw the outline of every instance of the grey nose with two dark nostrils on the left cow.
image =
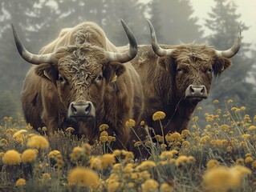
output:
M 92 109 L 91 102 L 71 102 L 70 110 L 71 116 L 74 117 L 83 117 L 91 114 Z

